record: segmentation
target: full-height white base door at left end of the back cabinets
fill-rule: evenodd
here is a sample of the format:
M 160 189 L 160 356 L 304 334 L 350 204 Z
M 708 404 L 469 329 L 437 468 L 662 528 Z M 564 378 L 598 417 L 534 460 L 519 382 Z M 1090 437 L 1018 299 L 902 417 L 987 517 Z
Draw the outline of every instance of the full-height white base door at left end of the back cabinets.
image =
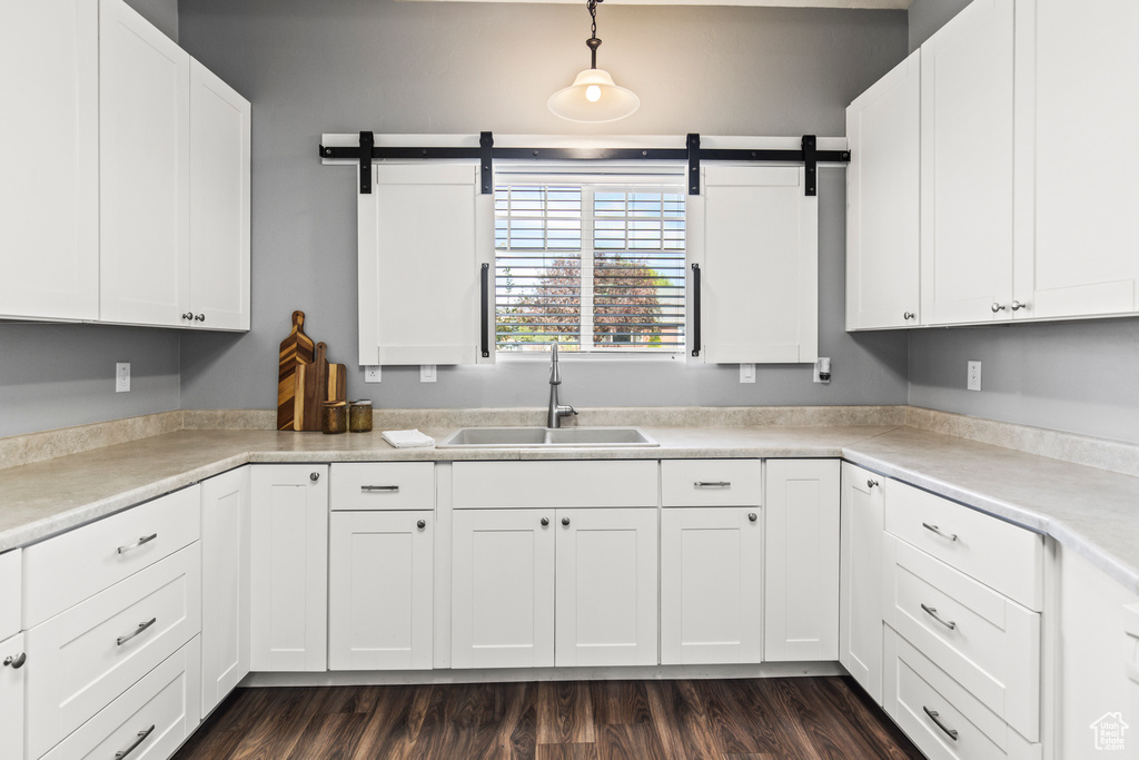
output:
M 254 465 L 249 668 L 325 670 L 328 465 Z

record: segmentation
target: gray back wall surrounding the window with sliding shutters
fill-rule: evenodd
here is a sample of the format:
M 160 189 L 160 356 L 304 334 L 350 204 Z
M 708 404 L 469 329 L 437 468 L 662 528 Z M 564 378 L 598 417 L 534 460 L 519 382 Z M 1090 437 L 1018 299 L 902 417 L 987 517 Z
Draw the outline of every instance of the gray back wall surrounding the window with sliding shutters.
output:
M 617 125 L 577 126 L 546 99 L 588 63 L 584 8 L 391 0 L 181 0 L 181 41 L 253 103 L 253 329 L 186 335 L 183 408 L 271 408 L 277 345 L 289 314 L 349 366 L 349 394 L 388 407 L 542 406 L 541 362 L 355 366 L 352 170 L 321 166 L 322 132 L 801 134 L 844 131 L 845 106 L 906 54 L 903 11 L 604 6 L 599 64 L 641 109 Z M 901 403 L 906 336 L 842 329 L 843 174 L 820 193 L 820 350 L 830 386 L 804 366 L 738 369 L 681 361 L 567 361 L 577 406 Z

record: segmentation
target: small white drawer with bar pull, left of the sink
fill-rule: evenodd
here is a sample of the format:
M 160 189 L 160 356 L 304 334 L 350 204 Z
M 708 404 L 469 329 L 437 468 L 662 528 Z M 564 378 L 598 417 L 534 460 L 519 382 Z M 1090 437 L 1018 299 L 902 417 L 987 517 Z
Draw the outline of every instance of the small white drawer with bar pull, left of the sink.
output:
M 435 465 L 429 461 L 335 464 L 331 479 L 333 512 L 435 508 Z

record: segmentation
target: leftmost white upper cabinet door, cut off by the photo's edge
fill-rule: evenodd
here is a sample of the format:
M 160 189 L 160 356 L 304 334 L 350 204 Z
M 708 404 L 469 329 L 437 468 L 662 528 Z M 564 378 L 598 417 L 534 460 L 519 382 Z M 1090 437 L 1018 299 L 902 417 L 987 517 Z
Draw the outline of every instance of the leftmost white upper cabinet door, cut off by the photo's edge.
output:
M 90 0 L 0 3 L 0 316 L 99 316 L 98 44 Z

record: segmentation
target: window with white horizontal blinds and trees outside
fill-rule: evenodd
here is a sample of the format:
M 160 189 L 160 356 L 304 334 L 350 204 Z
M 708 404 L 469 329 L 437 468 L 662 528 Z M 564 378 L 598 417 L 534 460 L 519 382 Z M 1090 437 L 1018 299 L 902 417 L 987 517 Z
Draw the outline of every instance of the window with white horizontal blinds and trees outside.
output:
M 672 179 L 500 182 L 497 350 L 682 351 L 685 191 Z

